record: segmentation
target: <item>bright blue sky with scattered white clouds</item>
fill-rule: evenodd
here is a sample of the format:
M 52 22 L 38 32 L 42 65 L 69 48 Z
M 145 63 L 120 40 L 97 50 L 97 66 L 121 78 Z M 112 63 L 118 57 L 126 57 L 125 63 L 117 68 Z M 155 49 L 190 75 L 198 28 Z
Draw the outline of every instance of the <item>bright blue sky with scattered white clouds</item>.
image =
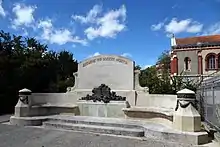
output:
M 0 0 L 0 29 L 81 61 L 117 54 L 155 64 L 176 37 L 220 34 L 220 0 Z

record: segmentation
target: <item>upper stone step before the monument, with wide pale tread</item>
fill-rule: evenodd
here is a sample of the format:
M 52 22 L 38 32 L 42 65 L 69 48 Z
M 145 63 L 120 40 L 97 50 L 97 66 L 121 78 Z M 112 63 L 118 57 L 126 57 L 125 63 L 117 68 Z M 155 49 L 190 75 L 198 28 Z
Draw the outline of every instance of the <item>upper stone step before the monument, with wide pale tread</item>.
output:
M 96 126 L 109 126 L 109 127 L 119 127 L 119 128 L 135 128 L 135 129 L 142 129 L 140 125 L 137 123 L 132 123 L 130 121 L 125 121 L 120 119 L 107 119 L 107 118 L 98 118 L 98 117 L 54 117 L 48 119 L 47 122 L 64 122 L 64 123 L 72 123 L 72 124 L 85 124 L 85 125 L 96 125 Z

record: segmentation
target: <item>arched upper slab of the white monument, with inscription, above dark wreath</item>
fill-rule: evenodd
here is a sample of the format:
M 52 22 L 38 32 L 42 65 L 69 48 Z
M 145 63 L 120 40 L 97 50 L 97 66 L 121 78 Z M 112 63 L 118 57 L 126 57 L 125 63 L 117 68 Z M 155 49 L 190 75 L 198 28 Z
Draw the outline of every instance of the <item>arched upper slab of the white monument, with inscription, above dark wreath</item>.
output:
M 78 64 L 74 73 L 75 85 L 67 92 L 76 94 L 76 98 L 92 93 L 92 89 L 106 84 L 118 95 L 126 97 L 130 105 L 135 105 L 136 92 L 148 93 L 148 88 L 139 85 L 140 72 L 134 71 L 134 61 L 117 55 L 99 55 Z

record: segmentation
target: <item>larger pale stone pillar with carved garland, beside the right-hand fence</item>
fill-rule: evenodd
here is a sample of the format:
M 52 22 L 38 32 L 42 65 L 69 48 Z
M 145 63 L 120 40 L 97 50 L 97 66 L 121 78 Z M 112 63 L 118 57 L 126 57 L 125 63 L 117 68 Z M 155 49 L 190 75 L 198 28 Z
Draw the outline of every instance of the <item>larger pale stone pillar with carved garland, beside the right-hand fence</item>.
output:
M 201 116 L 195 109 L 195 92 L 183 89 L 177 92 L 177 105 L 173 116 L 173 127 L 180 131 L 201 130 Z

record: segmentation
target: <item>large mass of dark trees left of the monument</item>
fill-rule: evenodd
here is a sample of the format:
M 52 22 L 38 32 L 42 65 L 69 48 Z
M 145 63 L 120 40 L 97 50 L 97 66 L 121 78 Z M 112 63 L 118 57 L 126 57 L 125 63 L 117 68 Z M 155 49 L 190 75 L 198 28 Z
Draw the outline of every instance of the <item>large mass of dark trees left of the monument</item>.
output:
M 35 38 L 0 31 L 0 113 L 12 112 L 18 91 L 65 92 L 77 71 L 73 54 L 54 52 Z

